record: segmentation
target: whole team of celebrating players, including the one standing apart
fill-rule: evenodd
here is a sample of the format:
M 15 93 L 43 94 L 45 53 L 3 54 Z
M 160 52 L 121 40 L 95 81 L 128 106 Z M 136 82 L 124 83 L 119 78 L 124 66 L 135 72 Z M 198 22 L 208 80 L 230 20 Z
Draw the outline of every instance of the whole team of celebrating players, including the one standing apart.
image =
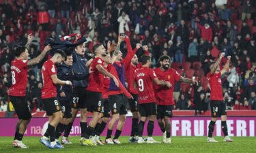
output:
M 18 122 L 12 146 L 28 148 L 22 141 L 27 125 L 31 120 L 31 112 L 25 101 L 27 86 L 27 67 L 40 63 L 50 52 L 51 58 L 42 66 L 42 102 L 48 115 L 48 129 L 40 142 L 48 148 L 64 148 L 62 144 L 71 144 L 68 136 L 76 114 L 81 112 L 81 144 L 84 146 L 104 145 L 105 143 L 121 143 L 119 136 L 126 122 L 127 105 L 132 112 L 130 142 L 160 143 L 153 139 L 154 121 L 162 131 L 162 143 L 171 143 L 171 120 L 173 105 L 173 86 L 175 82 L 198 84 L 197 80 L 182 77 L 175 69 L 171 69 L 171 59 L 167 55 L 160 56 L 160 67 L 151 69 L 151 56 L 147 46 L 137 44 L 132 50 L 130 39 L 119 35 L 115 49 L 107 44 L 93 48 L 94 58 L 85 58 L 84 37 L 77 34 L 74 42 L 51 40 L 45 44 L 41 54 L 29 59 L 29 44 L 32 35 L 28 36 L 26 46 L 16 48 L 16 58 L 12 61 L 12 86 L 10 101 L 14 105 Z M 125 41 L 127 54 L 123 58 L 120 44 Z M 139 63 L 136 52 L 143 48 L 145 54 Z M 221 117 L 221 126 L 225 135 L 224 141 L 232 141 L 227 135 L 227 116 L 223 103 L 221 74 L 229 69 L 230 56 L 225 67 L 220 70 L 218 61 L 212 64 L 208 78 L 211 88 L 212 121 L 209 124 L 208 142 L 217 142 L 213 137 L 217 117 Z M 87 112 L 92 118 L 87 124 Z M 112 116 L 111 116 L 112 115 Z M 147 122 L 147 139 L 143 138 L 143 129 Z M 117 122 L 115 135 L 113 128 Z M 106 124 L 105 141 L 100 140 Z M 59 137 L 63 137 L 59 142 Z M 62 144 L 61 144 L 62 143 Z

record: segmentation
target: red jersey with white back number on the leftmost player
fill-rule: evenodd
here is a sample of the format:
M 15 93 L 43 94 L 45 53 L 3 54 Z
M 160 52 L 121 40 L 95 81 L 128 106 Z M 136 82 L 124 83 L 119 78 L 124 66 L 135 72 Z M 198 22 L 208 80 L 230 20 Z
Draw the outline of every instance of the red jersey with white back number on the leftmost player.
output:
M 9 95 L 16 97 L 26 96 L 27 87 L 27 60 L 14 59 L 11 63 L 12 86 Z

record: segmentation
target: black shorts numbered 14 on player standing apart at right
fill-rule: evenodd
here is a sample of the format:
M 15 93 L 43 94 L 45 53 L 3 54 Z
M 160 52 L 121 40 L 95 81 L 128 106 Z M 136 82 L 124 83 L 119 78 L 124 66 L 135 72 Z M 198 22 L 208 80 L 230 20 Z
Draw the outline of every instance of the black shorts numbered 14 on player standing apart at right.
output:
M 212 118 L 218 118 L 227 115 L 226 104 L 224 101 L 210 101 Z

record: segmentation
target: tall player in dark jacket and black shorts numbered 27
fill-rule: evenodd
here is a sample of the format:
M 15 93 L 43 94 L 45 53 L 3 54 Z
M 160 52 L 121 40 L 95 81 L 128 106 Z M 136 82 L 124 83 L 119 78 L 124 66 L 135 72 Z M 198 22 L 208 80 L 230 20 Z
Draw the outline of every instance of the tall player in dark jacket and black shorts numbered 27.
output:
M 74 52 L 72 52 L 73 57 L 73 65 L 72 68 L 74 72 L 76 73 L 87 73 L 89 74 L 89 70 L 86 67 L 87 59 L 85 58 L 85 38 L 81 38 L 76 41 L 76 47 L 74 48 Z M 81 118 L 80 118 L 80 127 L 81 127 L 81 144 L 82 145 L 92 145 L 90 141 L 84 141 L 87 131 L 87 80 L 74 80 L 73 84 L 73 97 L 72 97 L 72 120 L 66 126 L 65 133 L 61 139 L 62 143 L 70 143 L 68 140 L 68 136 L 70 134 L 70 131 L 72 129 L 72 124 L 76 118 L 76 114 L 81 112 Z

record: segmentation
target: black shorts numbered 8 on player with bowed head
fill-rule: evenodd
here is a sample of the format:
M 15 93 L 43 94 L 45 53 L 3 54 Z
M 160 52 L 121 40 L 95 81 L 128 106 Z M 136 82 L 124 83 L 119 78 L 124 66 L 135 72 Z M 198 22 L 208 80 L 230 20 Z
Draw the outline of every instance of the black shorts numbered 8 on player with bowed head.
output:
M 44 104 L 44 109 L 48 116 L 52 116 L 54 113 L 61 111 L 61 105 L 56 97 L 42 99 L 42 103 Z

